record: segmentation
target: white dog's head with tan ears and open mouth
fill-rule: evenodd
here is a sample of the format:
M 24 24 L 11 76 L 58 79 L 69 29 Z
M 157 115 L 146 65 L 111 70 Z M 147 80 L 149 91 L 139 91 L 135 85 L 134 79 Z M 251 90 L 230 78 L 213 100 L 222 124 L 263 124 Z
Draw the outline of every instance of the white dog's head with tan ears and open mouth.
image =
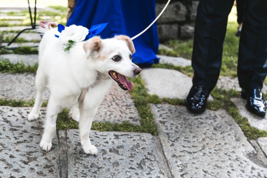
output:
M 97 71 L 108 74 L 123 90 L 133 89 L 133 83 L 127 77 L 136 77 L 141 68 L 132 62 L 135 49 L 128 36 L 118 35 L 110 39 L 95 36 L 84 42 L 83 49 Z

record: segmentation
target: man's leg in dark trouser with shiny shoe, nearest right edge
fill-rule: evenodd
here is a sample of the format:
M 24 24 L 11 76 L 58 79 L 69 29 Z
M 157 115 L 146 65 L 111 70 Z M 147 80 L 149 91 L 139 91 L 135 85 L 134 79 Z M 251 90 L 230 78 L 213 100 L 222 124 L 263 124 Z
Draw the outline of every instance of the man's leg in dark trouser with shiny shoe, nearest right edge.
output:
M 265 115 L 261 89 L 267 74 L 267 1 L 247 0 L 239 42 L 237 74 L 247 93 L 247 108 Z

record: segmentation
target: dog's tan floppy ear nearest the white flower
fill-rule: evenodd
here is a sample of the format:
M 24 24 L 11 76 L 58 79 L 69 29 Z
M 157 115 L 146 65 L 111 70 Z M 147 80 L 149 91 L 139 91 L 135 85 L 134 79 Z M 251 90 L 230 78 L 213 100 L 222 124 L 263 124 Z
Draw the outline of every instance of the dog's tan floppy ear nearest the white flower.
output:
M 94 52 L 98 53 L 101 50 L 101 47 L 102 47 L 102 41 L 99 36 L 94 36 L 93 38 L 90 38 L 83 43 L 83 50 L 86 53 L 87 59 L 92 53 Z

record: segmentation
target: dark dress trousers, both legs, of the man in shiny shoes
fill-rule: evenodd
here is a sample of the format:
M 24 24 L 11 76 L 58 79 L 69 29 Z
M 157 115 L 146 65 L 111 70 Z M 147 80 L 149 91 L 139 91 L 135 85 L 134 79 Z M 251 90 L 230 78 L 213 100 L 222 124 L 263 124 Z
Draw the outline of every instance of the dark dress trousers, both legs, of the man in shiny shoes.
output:
M 200 0 L 195 23 L 193 85 L 211 91 L 222 64 L 228 15 L 234 0 Z M 233 36 L 235 38 L 235 36 Z M 262 88 L 267 74 L 267 1 L 247 0 L 239 42 L 238 79 L 241 88 Z

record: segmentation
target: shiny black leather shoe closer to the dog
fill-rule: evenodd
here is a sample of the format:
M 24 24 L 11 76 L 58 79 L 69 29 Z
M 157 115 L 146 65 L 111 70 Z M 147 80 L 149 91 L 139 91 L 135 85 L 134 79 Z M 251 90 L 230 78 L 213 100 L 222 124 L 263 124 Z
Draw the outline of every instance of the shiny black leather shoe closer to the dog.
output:
M 208 97 L 208 89 L 202 86 L 193 86 L 185 101 L 187 109 L 198 114 L 204 112 L 207 107 Z

